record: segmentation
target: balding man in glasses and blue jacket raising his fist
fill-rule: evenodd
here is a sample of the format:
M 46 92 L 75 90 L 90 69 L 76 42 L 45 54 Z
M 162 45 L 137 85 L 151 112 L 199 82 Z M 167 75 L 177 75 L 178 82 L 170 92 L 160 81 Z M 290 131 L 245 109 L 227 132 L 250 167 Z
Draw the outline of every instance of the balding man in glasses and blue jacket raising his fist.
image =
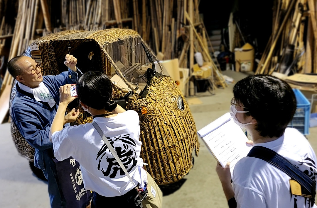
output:
M 56 173 L 49 130 L 59 103 L 59 87 L 75 84 L 78 80 L 77 59 L 67 54 L 64 64 L 68 72 L 56 76 L 42 76 L 41 65 L 28 56 L 17 56 L 7 65 L 17 80 L 16 96 L 11 105 L 12 120 L 35 148 L 34 165 L 42 169 L 48 179 L 50 203 L 54 208 L 65 207 L 65 198 Z M 73 119 L 71 112 L 65 116 L 64 125 Z

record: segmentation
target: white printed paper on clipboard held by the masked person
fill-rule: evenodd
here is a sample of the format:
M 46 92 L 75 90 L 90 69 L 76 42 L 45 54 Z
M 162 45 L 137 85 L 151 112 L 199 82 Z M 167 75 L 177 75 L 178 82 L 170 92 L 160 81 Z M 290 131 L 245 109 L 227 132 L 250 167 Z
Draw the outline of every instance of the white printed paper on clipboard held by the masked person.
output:
M 232 179 L 236 163 L 247 156 L 252 148 L 245 144 L 248 138 L 243 130 L 234 123 L 230 113 L 226 113 L 197 133 L 222 167 L 225 167 L 227 161 L 230 161 Z

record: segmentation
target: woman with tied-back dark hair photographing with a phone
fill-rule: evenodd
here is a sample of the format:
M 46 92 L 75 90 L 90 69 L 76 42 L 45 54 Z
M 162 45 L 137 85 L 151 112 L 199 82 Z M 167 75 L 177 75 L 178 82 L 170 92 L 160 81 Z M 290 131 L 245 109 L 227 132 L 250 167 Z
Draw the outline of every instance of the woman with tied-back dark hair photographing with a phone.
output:
M 80 163 L 80 177 L 84 186 L 94 192 L 92 208 L 106 205 L 140 207 L 134 201 L 138 194 L 134 185 L 139 187 L 143 184 L 147 173 L 142 168 L 143 160 L 140 158 L 138 113 L 126 111 L 112 100 L 112 83 L 104 73 L 86 72 L 78 80 L 76 89 L 82 108 L 100 126 L 134 183 L 129 180 L 92 123 L 63 129 L 66 107 L 75 99 L 70 95 L 70 85 L 60 88 L 60 104 L 51 125 L 50 139 L 56 159 L 62 161 L 73 156 Z M 79 110 L 73 109 L 75 118 L 78 114 Z M 80 177 L 75 179 L 74 176 L 76 183 L 81 183 Z

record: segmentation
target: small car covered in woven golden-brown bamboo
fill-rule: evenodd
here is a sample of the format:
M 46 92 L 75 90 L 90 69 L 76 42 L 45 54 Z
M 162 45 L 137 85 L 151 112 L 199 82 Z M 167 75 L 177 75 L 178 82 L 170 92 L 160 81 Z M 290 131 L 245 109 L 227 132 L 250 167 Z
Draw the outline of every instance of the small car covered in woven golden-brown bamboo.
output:
M 125 104 L 139 113 L 141 156 L 148 164 L 146 170 L 158 184 L 182 179 L 193 165 L 193 149 L 196 155 L 199 151 L 195 123 L 175 81 L 140 35 L 117 28 L 68 30 L 37 39 L 25 54 L 41 63 L 44 75 L 56 75 L 66 70 L 63 61 L 68 53 L 78 59 L 82 72 L 98 70 L 114 80 L 115 100 L 133 92 Z M 11 102 L 15 93 L 13 85 Z M 81 111 L 77 124 L 87 122 L 92 122 L 91 116 Z M 11 130 L 18 151 L 34 159 L 34 149 L 14 123 Z

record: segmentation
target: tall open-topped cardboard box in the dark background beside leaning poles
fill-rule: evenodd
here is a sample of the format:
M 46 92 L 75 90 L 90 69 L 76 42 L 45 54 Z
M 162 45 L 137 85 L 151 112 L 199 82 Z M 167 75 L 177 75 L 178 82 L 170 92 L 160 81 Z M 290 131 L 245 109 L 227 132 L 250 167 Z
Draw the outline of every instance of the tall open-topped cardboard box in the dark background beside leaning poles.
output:
M 237 72 L 251 72 L 254 66 L 254 48 L 246 43 L 242 48 L 235 48 Z

